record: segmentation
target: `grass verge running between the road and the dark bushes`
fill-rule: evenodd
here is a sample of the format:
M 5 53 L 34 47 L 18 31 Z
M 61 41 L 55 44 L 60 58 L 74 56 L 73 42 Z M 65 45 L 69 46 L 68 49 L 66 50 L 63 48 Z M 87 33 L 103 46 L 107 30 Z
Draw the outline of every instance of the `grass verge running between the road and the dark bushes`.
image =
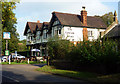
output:
M 112 75 L 101 75 L 91 72 L 60 70 L 60 69 L 55 69 L 53 66 L 47 66 L 47 65 L 38 68 L 36 70 L 55 74 L 55 75 L 81 79 L 95 84 L 120 84 L 120 73 L 112 74 Z

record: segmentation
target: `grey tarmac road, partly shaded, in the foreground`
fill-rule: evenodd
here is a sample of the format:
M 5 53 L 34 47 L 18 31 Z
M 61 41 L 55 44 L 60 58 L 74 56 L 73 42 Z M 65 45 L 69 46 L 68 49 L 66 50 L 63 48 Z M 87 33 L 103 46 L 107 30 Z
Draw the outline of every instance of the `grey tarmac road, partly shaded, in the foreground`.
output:
M 88 84 L 81 80 L 35 71 L 41 65 L 2 65 L 2 84 Z

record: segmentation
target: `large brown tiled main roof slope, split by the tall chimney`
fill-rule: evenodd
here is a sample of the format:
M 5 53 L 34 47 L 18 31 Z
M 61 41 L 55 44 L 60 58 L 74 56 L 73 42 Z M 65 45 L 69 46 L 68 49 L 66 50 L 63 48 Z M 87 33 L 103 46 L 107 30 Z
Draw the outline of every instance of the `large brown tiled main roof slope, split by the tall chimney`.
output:
M 55 15 L 58 18 L 61 25 L 78 27 L 83 26 L 80 15 L 60 12 L 53 12 L 52 14 L 53 16 Z M 100 17 L 87 16 L 87 27 L 107 28 L 107 25 Z

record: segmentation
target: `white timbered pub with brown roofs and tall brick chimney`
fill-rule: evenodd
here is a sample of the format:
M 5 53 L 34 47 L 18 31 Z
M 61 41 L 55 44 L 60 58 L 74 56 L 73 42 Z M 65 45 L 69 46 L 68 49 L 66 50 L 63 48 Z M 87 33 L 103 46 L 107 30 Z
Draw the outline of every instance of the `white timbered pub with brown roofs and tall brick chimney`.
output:
M 49 38 L 57 35 L 76 44 L 83 40 L 97 40 L 106 28 L 100 17 L 87 16 L 83 7 L 81 15 L 53 12 L 50 22 L 27 22 L 24 35 L 30 50 L 40 49 L 40 56 L 47 56 L 46 44 Z

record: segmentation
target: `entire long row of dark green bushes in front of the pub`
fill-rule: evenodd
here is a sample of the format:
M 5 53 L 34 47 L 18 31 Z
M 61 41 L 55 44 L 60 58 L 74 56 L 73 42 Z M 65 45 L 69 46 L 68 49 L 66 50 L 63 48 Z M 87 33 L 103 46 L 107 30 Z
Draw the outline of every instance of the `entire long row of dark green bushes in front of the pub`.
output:
M 76 66 L 103 66 L 106 73 L 116 70 L 120 64 L 120 53 L 116 41 L 84 41 L 76 46 L 70 42 L 57 40 L 48 44 L 52 60 L 71 61 Z

